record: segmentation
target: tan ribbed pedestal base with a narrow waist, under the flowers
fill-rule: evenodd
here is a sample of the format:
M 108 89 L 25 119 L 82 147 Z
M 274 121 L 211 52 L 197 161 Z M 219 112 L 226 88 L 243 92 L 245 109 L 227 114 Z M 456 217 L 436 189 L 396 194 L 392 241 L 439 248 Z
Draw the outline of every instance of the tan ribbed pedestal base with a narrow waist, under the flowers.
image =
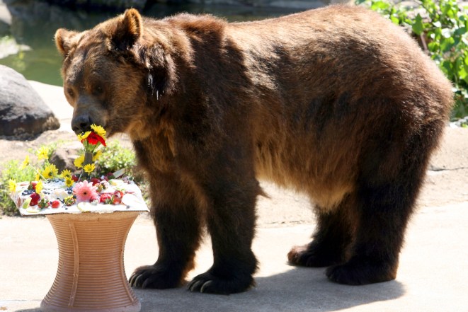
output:
M 138 312 L 123 265 L 127 233 L 138 214 L 47 215 L 57 236 L 59 265 L 41 311 Z

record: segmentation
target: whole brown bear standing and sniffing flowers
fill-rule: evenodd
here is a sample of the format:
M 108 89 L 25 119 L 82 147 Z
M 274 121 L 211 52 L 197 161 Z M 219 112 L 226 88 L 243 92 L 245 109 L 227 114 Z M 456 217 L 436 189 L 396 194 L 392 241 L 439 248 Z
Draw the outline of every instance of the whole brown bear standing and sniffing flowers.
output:
M 57 30 L 75 132 L 126 132 L 151 187 L 159 258 L 132 287 L 251 287 L 258 179 L 307 193 L 317 227 L 292 265 L 343 284 L 396 277 L 404 232 L 450 114 L 450 83 L 403 30 L 352 6 L 227 23 L 135 9 Z

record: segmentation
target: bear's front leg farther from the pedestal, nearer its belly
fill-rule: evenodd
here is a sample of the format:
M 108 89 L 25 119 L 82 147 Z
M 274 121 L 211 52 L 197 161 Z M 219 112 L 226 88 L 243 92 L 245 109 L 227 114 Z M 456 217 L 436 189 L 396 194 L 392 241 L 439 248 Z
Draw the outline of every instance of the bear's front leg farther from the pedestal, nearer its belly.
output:
M 190 291 L 233 294 L 254 284 L 252 275 L 256 271 L 257 260 L 251 244 L 260 186 L 253 175 L 248 179 L 227 175 L 205 187 L 209 206 L 207 226 L 212 238 L 214 263 L 210 270 L 188 284 Z

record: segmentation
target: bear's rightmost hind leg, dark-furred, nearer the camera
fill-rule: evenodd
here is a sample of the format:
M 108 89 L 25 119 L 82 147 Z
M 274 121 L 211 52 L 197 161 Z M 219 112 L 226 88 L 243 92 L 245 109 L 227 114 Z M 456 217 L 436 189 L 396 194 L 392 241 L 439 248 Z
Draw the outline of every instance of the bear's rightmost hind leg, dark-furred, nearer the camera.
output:
M 406 224 L 426 170 L 424 156 L 420 156 L 401 168 L 396 178 L 380 180 L 380 175 L 374 176 L 373 182 L 361 180 L 356 191 L 360 218 L 352 257 L 328 268 L 326 275 L 331 281 L 360 285 L 396 278 Z

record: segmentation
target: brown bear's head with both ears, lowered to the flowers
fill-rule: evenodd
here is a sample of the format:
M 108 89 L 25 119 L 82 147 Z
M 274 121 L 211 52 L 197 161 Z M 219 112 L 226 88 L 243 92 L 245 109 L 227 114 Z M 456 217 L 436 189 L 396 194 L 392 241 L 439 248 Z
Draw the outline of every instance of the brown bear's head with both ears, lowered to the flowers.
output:
M 142 17 L 125 11 L 91 30 L 59 29 L 57 49 L 64 57 L 64 93 L 74 108 L 72 129 L 103 126 L 109 135 L 145 136 L 145 120 L 174 88 L 175 67 L 164 41 L 145 35 Z

